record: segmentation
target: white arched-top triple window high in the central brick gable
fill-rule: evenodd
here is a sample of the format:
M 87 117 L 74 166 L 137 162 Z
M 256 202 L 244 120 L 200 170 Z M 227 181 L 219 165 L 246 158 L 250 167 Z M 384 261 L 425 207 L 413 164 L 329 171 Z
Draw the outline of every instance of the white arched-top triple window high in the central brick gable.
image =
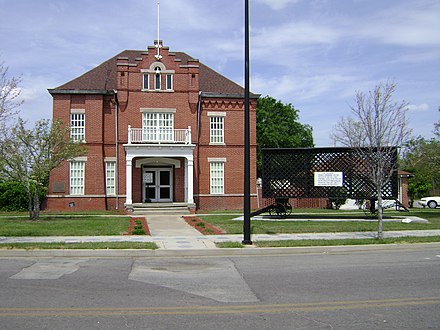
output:
M 155 62 L 150 65 L 149 69 L 142 69 L 142 90 L 143 91 L 167 91 L 174 90 L 174 70 L 167 70 L 161 62 Z M 162 77 L 165 82 L 162 83 Z

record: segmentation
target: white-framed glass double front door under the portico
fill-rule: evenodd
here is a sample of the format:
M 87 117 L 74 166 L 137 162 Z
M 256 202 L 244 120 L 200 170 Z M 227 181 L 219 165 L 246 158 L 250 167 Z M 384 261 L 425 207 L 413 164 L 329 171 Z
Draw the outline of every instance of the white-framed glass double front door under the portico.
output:
M 144 203 L 173 201 L 172 168 L 144 167 L 142 170 L 142 200 Z

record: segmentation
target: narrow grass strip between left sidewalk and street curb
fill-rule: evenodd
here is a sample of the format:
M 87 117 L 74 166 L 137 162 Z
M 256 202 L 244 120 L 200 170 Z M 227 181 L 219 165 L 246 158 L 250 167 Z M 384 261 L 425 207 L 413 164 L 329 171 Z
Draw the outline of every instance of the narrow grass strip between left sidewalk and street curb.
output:
M 44 249 L 87 249 L 87 250 L 108 250 L 108 249 L 157 249 L 156 243 L 151 242 L 92 242 L 92 243 L 5 243 L 0 244 L 0 249 L 24 249 L 24 250 L 44 250 Z

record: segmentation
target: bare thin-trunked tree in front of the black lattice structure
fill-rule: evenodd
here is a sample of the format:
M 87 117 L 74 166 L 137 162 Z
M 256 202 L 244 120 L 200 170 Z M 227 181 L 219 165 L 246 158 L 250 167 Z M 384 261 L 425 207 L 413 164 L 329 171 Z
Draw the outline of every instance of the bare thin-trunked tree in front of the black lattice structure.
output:
M 364 160 L 377 197 L 377 237 L 383 237 L 382 188 L 396 169 L 390 166 L 395 147 L 401 147 L 410 135 L 406 101 L 394 101 L 396 84 L 379 83 L 372 91 L 357 91 L 355 105 L 350 106 L 352 117 L 342 117 L 331 137 L 336 144 L 352 147 Z

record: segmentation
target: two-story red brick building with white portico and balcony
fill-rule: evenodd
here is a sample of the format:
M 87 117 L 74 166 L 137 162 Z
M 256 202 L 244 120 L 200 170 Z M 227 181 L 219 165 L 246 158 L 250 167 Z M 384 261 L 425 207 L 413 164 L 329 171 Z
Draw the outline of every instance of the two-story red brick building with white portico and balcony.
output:
M 48 209 L 242 208 L 244 89 L 197 59 L 155 42 L 49 92 L 53 119 L 69 124 L 88 153 L 51 172 Z M 251 94 L 251 183 L 257 98 Z

